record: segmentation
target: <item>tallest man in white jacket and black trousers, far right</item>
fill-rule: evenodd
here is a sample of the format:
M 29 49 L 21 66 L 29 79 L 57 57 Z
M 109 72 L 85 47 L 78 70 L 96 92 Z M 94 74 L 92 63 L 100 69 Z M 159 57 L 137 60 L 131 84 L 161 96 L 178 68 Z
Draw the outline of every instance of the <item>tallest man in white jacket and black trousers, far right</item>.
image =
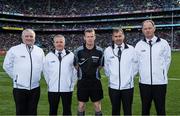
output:
M 140 74 L 142 115 L 150 115 L 152 100 L 155 103 L 157 115 L 165 115 L 171 48 L 166 40 L 154 35 L 155 25 L 152 20 L 143 22 L 142 32 L 145 38 L 135 47 Z

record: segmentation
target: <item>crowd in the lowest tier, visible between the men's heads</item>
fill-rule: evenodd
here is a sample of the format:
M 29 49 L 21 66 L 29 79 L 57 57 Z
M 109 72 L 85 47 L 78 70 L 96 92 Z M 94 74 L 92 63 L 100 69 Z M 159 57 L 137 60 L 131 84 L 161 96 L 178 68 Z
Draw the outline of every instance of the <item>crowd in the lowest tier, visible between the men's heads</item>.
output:
M 74 50 L 78 46 L 82 45 L 83 33 L 82 34 L 62 34 L 66 38 L 66 48 L 69 50 Z M 135 46 L 135 44 L 143 39 L 142 32 L 139 31 L 125 31 L 126 42 Z M 172 34 L 169 30 L 157 30 L 156 35 L 166 39 L 171 45 Z M 180 31 L 174 32 L 173 48 L 180 49 Z M 45 52 L 48 52 L 53 49 L 53 37 L 55 34 L 36 34 L 36 45 L 42 47 Z M 8 50 L 10 47 L 20 44 L 21 33 L 0 33 L 0 49 Z M 101 32 L 96 34 L 96 44 L 105 48 L 111 45 L 111 33 L 110 32 Z

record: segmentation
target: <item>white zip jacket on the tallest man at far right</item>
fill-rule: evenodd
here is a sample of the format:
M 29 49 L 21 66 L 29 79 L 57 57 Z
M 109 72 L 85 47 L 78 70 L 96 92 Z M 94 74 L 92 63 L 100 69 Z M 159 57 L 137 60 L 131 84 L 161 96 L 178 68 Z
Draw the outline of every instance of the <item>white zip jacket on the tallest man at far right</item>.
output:
M 167 73 L 171 62 L 171 48 L 164 39 L 152 38 L 152 47 L 141 40 L 136 44 L 138 56 L 139 82 L 148 85 L 167 84 Z

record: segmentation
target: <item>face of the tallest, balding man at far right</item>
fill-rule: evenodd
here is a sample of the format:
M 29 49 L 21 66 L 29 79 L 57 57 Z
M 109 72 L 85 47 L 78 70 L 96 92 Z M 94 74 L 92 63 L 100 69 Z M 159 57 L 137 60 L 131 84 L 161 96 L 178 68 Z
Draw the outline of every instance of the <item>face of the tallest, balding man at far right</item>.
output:
M 152 39 L 155 32 L 155 27 L 151 22 L 144 22 L 142 32 L 147 39 Z

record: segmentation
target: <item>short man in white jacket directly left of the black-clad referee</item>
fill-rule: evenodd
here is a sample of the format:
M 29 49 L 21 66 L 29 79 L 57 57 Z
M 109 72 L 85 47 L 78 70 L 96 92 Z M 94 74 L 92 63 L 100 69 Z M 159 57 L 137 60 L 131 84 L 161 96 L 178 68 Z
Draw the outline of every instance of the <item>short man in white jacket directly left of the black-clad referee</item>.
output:
M 54 37 L 53 52 L 49 52 L 44 61 L 44 77 L 48 85 L 48 101 L 50 115 L 57 115 L 60 97 L 62 99 L 63 115 L 72 115 L 72 92 L 76 81 L 74 54 L 64 49 L 65 38 L 62 35 Z

